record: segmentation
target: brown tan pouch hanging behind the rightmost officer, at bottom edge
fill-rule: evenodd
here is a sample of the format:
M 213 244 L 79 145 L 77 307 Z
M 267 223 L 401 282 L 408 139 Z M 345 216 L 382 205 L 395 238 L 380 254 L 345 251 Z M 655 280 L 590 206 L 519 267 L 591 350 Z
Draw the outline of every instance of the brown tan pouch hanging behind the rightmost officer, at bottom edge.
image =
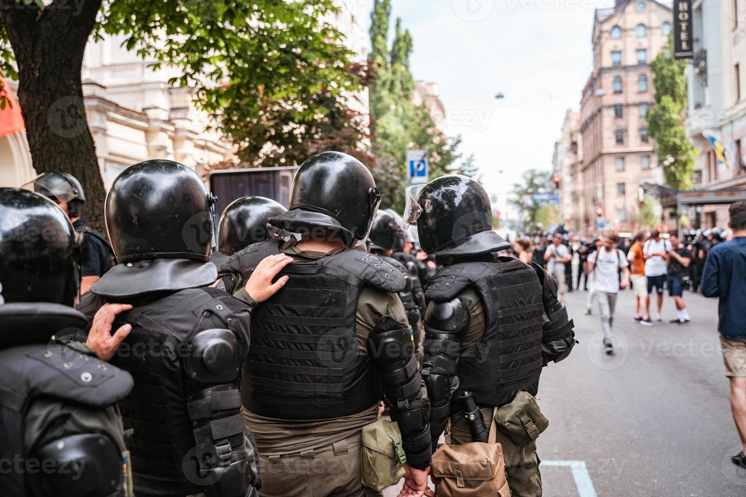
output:
M 498 433 L 495 411 L 492 414 L 487 443 L 471 442 L 458 446 L 443 443 L 433 454 L 436 496 L 510 497 L 503 447 L 495 443 Z

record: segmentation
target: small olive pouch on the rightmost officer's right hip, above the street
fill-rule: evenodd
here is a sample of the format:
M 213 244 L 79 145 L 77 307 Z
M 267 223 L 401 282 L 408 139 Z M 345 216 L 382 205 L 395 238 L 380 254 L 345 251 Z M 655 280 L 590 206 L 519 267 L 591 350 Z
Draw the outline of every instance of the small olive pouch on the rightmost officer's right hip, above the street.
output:
M 519 447 L 527 446 L 547 429 L 549 420 L 544 417 L 536 397 L 528 392 L 518 392 L 510 404 L 498 408 L 498 429 Z

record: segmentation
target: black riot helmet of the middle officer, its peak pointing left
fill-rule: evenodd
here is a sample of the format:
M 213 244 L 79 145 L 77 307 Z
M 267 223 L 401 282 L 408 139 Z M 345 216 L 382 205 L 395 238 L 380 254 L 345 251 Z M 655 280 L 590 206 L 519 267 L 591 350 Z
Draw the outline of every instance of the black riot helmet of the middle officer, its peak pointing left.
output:
M 362 162 L 346 153 L 319 153 L 301 165 L 292 181 L 290 209 L 269 223 L 291 232 L 322 229 L 354 247 L 368 236 L 380 193 Z

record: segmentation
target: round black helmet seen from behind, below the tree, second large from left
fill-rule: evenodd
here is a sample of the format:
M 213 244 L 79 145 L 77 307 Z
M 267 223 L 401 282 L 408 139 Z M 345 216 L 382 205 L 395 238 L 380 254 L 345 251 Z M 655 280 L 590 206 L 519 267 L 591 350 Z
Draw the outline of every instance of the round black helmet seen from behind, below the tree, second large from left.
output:
M 106 197 L 106 229 L 117 261 L 207 262 L 214 205 L 213 195 L 186 165 L 160 159 L 131 165 Z

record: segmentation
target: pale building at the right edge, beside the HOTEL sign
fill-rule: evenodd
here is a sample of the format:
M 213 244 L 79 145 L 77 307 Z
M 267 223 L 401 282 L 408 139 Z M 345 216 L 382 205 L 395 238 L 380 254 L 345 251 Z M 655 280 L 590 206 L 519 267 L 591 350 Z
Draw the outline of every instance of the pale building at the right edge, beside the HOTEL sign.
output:
M 692 29 L 686 128 L 700 149 L 698 180 L 706 190 L 746 189 L 746 0 L 694 1 Z M 724 163 L 710 136 L 723 145 Z M 725 227 L 727 208 L 702 206 L 701 226 Z

